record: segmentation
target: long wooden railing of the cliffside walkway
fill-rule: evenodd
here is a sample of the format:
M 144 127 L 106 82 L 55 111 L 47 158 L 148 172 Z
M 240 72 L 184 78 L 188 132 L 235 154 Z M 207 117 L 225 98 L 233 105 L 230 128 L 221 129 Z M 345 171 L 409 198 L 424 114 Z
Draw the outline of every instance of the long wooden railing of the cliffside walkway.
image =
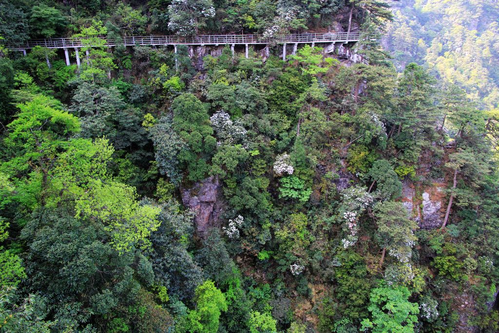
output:
M 360 32 L 328 32 L 328 33 L 297 33 L 265 38 L 261 34 L 232 35 L 198 35 L 198 36 L 127 36 L 119 44 L 132 45 L 217 45 L 217 44 L 286 44 L 286 43 L 327 43 L 358 41 Z M 113 39 L 106 40 L 105 46 L 112 47 L 117 43 Z M 90 44 L 90 45 L 89 45 Z M 48 48 L 69 48 L 96 46 L 91 45 L 89 38 L 48 38 L 32 39 L 21 43 L 6 45 L 13 50 L 26 50 L 35 46 Z

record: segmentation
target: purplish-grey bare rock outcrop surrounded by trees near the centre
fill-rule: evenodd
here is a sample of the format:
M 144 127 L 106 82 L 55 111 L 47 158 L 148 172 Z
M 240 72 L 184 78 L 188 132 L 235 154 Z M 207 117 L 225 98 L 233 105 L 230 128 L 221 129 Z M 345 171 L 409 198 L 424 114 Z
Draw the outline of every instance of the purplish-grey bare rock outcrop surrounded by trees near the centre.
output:
M 182 190 L 182 202 L 195 212 L 196 232 L 205 237 L 208 229 L 217 226 L 223 211 L 222 185 L 218 177 L 211 176 Z

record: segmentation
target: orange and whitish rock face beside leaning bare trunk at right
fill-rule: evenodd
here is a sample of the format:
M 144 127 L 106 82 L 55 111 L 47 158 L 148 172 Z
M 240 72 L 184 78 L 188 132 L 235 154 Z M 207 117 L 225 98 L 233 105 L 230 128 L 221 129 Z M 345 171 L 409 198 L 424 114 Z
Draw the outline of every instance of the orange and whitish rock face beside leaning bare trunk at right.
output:
M 433 187 L 422 188 L 421 198 L 416 198 L 416 190 L 410 185 L 404 182 L 402 187 L 402 204 L 409 215 L 422 229 L 439 228 L 442 225 L 442 200 L 446 197 L 440 187 L 442 184 L 435 183 Z

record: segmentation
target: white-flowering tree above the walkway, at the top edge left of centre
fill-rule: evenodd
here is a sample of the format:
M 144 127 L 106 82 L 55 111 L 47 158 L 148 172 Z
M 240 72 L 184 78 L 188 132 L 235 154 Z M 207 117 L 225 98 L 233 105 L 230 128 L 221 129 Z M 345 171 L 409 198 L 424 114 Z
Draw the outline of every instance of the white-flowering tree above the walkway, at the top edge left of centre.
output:
M 168 28 L 182 36 L 198 33 L 206 19 L 215 16 L 212 0 L 172 0 L 168 6 Z

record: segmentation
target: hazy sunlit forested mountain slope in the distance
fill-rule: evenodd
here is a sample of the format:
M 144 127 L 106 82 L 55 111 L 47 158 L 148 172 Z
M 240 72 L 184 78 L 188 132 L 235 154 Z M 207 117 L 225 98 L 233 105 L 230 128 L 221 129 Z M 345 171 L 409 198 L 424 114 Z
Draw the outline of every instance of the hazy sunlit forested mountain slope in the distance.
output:
M 464 88 L 482 108 L 499 103 L 499 2 L 496 0 L 390 1 L 394 20 L 385 48 L 399 70 L 428 66 L 444 85 Z

